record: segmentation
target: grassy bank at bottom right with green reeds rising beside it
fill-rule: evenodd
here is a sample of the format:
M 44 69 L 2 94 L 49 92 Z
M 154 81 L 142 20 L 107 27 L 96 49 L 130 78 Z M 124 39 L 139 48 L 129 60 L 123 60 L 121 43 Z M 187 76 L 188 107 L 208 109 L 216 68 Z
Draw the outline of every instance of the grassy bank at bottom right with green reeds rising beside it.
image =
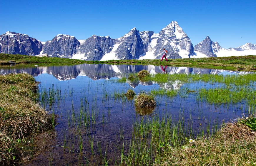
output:
M 235 122 L 209 137 L 185 134 L 183 121 L 154 116 L 135 121 L 125 165 L 255 165 L 256 132 Z M 121 164 L 123 165 L 123 163 Z

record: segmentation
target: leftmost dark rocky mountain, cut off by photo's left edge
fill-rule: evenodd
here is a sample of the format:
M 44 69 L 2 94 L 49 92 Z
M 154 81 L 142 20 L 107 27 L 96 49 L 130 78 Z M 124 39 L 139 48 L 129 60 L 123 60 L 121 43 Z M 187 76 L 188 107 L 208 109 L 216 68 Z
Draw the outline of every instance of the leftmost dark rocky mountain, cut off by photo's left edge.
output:
M 0 52 L 35 56 L 42 50 L 42 43 L 28 35 L 6 32 L 0 35 Z

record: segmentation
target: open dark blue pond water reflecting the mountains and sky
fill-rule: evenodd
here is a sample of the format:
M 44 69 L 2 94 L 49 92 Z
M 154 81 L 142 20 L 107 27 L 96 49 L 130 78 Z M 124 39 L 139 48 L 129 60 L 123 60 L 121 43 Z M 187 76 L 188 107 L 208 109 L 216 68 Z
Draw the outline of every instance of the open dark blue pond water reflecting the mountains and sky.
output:
M 164 66 L 165 67 L 165 66 Z M 117 80 L 128 78 L 129 74 L 148 70 L 156 73 L 185 73 L 185 74 L 246 74 L 226 70 L 200 69 L 188 67 L 166 67 L 143 65 L 107 65 L 82 64 L 74 66 L 33 67 L 24 69 L 1 69 L 0 74 L 29 73 L 39 84 L 39 91 L 54 89 L 58 91 L 59 100 L 51 105 L 46 104 L 47 111 L 58 115 L 56 145 L 51 151 L 39 155 L 31 165 L 101 165 L 100 151 L 109 160 L 109 165 L 115 165 L 120 158 L 120 146 L 129 143 L 132 137 L 133 122 L 142 117 L 166 115 L 172 119 L 183 118 L 185 127 L 192 126 L 195 135 L 200 130 L 214 126 L 219 127 L 223 121 L 242 116 L 245 113 L 243 101 L 238 104 L 214 105 L 196 100 L 196 94 L 178 94 L 176 97 L 156 97 L 157 106 L 149 114 L 136 112 L 133 100 L 127 100 L 121 94 L 132 89 L 136 94 L 149 92 L 152 89 L 199 89 L 214 88 L 220 84 L 197 82 L 196 84 L 181 84 L 170 82 L 157 84 L 155 82 L 126 82 Z M 55 96 L 56 97 L 56 96 Z M 41 96 L 40 96 L 41 98 Z M 56 99 L 56 98 L 55 98 Z M 43 105 L 44 103 L 41 102 Z M 81 116 L 87 112 L 88 117 Z M 85 122 L 84 118 L 88 118 Z M 79 120 L 82 119 L 80 122 Z M 200 123 L 202 126 L 200 127 Z M 79 130 L 77 130 L 79 128 Z M 199 130 L 200 128 L 200 130 Z M 120 134 L 121 133 L 121 134 Z M 122 138 L 123 134 L 123 139 Z M 64 141 L 66 140 L 64 152 Z M 93 141 L 92 141 L 93 140 Z M 121 141 L 122 140 L 122 141 Z M 91 153 L 90 141 L 93 142 L 94 155 Z M 79 143 L 82 142 L 82 155 Z M 99 148 L 99 144 L 101 148 Z M 80 154 L 80 155 L 79 155 Z M 80 157 L 78 157 L 80 156 Z

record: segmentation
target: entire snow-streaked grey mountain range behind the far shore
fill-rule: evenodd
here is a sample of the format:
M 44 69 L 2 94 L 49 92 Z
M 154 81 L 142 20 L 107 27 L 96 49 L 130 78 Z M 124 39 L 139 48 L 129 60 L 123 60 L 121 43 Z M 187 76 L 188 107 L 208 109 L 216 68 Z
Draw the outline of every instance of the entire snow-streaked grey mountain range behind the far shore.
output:
M 117 39 L 93 35 L 86 40 L 77 40 L 74 36 L 62 34 L 41 42 L 22 33 L 8 31 L 0 35 L 0 53 L 30 56 L 48 54 L 50 57 L 81 60 L 160 59 L 162 48 L 168 50 L 168 59 L 256 55 L 255 44 L 225 49 L 209 36 L 193 46 L 176 21 L 159 33 L 139 32 L 133 28 Z

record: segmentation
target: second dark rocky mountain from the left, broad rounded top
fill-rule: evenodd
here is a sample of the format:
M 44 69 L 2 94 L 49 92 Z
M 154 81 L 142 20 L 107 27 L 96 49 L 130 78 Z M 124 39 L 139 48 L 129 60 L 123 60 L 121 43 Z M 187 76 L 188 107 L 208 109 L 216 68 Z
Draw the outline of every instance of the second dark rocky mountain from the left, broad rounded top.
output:
M 79 41 L 74 36 L 57 35 L 44 44 L 42 54 L 46 53 L 53 57 L 71 58 L 76 53 L 79 45 Z

